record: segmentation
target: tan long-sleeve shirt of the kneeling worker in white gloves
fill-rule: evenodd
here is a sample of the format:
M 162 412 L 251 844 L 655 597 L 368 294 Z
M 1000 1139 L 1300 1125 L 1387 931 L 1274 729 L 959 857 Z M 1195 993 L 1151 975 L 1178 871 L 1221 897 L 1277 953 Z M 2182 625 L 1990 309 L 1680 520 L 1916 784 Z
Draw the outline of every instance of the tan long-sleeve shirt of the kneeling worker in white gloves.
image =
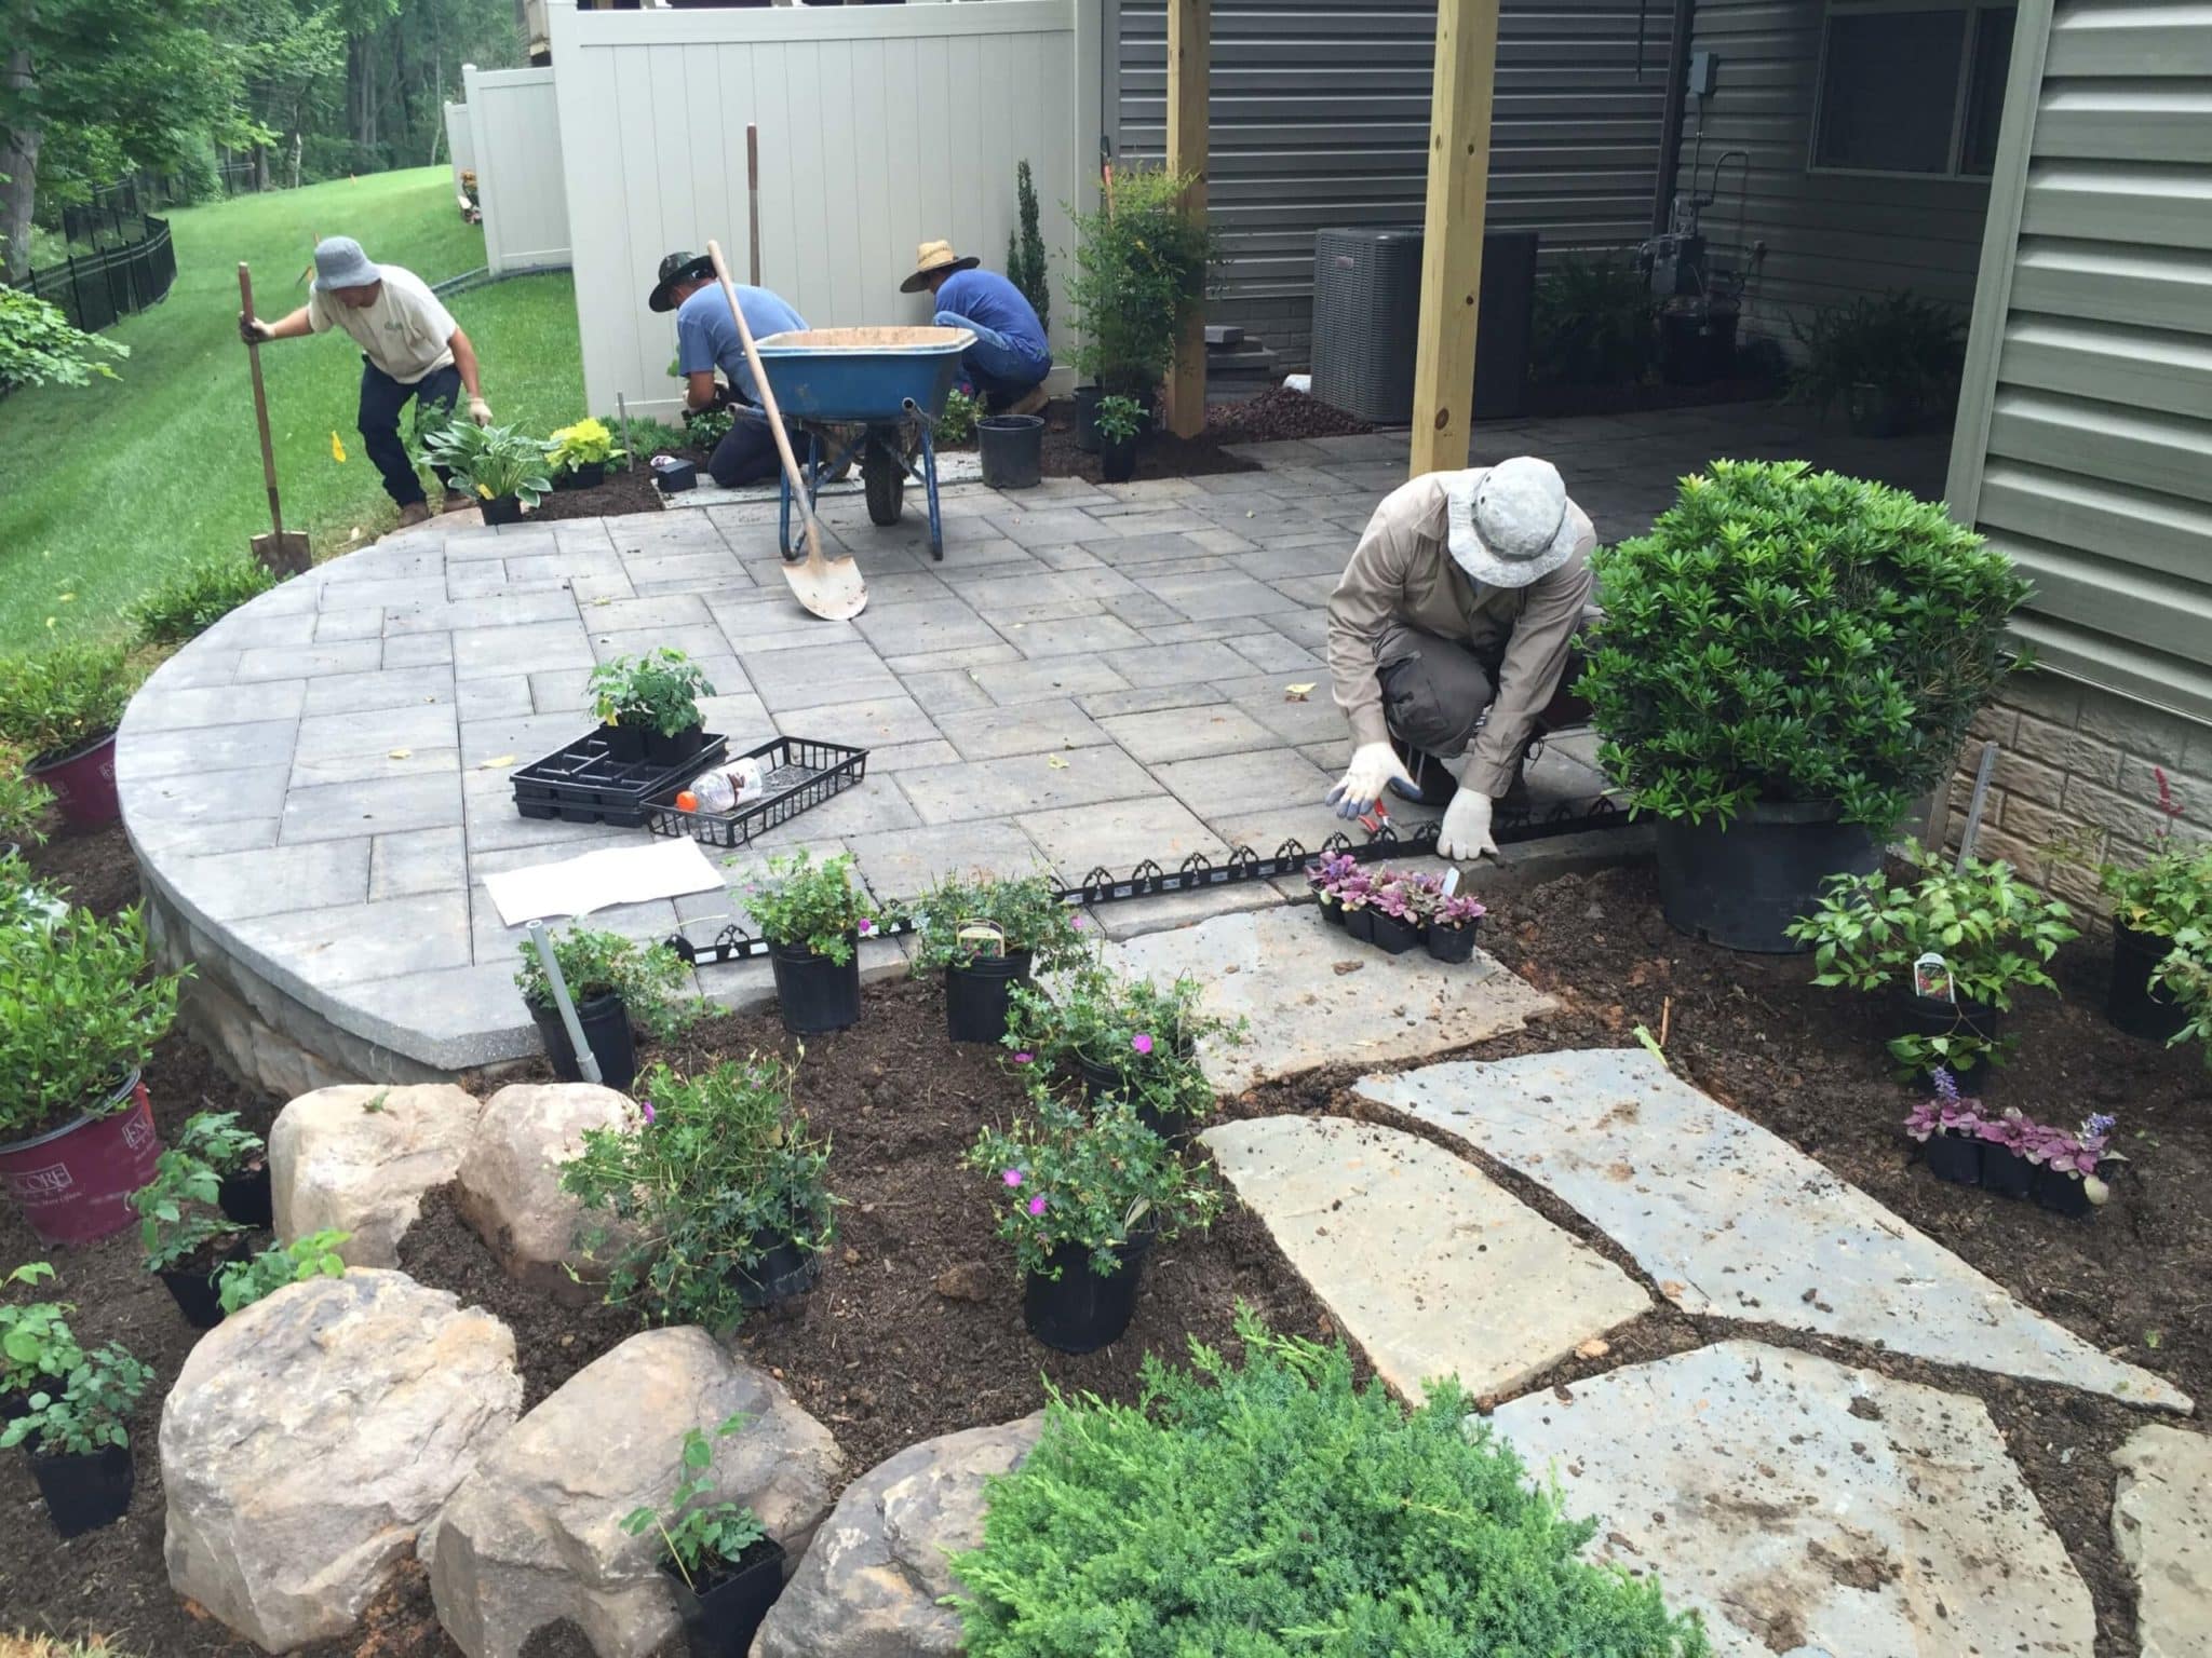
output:
M 1405 623 L 1438 639 L 1464 641 L 1475 657 L 1498 661 L 1491 716 L 1469 747 L 1462 783 L 1502 796 L 1513 767 L 1566 672 L 1568 646 L 1595 586 L 1588 513 L 1566 504 L 1579 526 L 1575 555 L 1526 588 L 1471 581 L 1447 544 L 1444 478 L 1427 473 L 1400 484 L 1367 520 L 1352 564 L 1329 595 L 1329 679 L 1352 741 L 1383 743 L 1383 637 Z

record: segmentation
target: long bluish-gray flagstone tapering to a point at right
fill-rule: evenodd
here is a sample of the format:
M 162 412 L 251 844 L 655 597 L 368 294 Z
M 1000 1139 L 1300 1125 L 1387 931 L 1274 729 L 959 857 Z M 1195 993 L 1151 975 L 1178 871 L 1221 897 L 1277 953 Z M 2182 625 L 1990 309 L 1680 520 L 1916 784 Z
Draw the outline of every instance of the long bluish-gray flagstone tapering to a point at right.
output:
M 1367 1077 L 1358 1092 L 1542 1180 L 1686 1313 L 2190 1410 L 2163 1377 L 2028 1311 L 1639 1048 L 1429 1066 Z

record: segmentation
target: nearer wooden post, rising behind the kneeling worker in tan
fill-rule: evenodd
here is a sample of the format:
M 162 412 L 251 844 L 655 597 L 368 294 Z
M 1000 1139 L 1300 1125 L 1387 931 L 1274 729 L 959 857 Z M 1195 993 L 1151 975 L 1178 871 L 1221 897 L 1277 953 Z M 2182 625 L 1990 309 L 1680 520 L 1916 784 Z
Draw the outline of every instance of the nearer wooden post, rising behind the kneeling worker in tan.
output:
M 1413 478 L 1467 464 L 1495 77 L 1498 0 L 1438 0 L 1420 349 L 1413 358 Z

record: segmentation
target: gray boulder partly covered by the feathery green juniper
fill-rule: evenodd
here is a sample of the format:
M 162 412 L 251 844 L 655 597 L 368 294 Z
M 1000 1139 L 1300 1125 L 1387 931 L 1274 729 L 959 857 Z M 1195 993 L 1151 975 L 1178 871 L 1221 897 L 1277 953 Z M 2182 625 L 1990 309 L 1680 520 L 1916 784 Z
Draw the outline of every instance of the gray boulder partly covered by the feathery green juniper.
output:
M 947 1556 L 982 1541 L 984 1479 L 1018 1468 L 1042 1415 L 907 1446 L 847 1486 L 768 1609 L 752 1658 L 936 1658 L 960 1651 L 938 1605 Z

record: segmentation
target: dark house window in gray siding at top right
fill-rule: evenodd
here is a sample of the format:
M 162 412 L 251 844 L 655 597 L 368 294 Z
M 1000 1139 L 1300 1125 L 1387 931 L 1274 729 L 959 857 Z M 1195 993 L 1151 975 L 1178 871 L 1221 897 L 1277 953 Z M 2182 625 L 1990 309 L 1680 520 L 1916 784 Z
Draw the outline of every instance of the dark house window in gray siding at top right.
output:
M 2013 7 L 1832 0 L 1812 168 L 1989 177 L 2013 57 Z

